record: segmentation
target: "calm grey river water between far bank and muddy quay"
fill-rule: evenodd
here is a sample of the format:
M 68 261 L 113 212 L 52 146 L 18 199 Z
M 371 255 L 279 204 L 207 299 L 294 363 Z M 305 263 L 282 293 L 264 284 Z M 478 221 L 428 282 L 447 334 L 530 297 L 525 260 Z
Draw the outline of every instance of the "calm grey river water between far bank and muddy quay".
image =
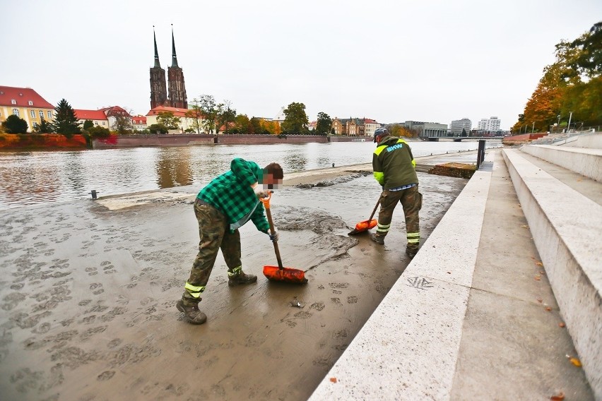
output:
M 411 142 L 414 157 L 476 150 L 478 142 Z M 500 143 L 487 143 L 489 147 Z M 0 210 L 23 205 L 203 186 L 230 169 L 234 157 L 264 166 L 278 162 L 287 172 L 372 162 L 372 142 L 276 145 L 199 145 L 0 153 Z M 476 156 L 475 161 L 476 162 Z

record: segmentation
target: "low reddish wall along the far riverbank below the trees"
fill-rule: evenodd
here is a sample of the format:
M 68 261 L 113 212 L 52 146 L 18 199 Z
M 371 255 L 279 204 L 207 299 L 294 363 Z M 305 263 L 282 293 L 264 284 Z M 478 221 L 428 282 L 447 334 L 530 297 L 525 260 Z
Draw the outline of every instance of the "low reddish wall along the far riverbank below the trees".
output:
M 189 145 L 269 145 L 274 143 L 329 143 L 365 142 L 369 136 L 323 136 L 323 135 L 240 135 L 240 134 L 158 134 L 121 135 L 93 140 L 93 148 L 137 148 L 145 146 L 189 146 Z

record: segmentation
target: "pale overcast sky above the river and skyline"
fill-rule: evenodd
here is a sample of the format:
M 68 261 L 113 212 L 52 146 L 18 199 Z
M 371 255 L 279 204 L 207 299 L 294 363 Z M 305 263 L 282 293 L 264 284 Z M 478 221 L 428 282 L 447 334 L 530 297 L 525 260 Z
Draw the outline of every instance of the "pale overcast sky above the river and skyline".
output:
M 150 109 L 153 25 L 171 65 L 171 24 L 189 102 L 230 100 L 273 118 L 366 117 L 473 127 L 523 112 L 555 44 L 602 20 L 600 0 L 0 0 L 0 85 L 75 109 Z

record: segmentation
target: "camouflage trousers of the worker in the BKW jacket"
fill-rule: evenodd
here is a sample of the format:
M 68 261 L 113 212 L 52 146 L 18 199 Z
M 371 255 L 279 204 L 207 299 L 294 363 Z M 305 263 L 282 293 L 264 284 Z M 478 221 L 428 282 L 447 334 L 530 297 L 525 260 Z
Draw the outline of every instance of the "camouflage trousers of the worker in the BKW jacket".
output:
M 420 218 L 418 211 L 423 206 L 423 194 L 418 192 L 418 185 L 401 191 L 382 191 L 380 195 L 380 210 L 376 235 L 385 237 L 391 228 L 393 211 L 401 203 L 403 214 L 406 216 L 407 249 L 417 251 L 420 247 Z

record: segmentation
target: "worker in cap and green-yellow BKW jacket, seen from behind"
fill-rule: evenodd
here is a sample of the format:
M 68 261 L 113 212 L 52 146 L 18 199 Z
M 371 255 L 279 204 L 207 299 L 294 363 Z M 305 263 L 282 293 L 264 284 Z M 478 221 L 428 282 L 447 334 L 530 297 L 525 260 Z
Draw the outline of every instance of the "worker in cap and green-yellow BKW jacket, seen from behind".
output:
M 389 135 L 386 128 L 374 131 L 377 148 L 372 155 L 374 178 L 382 186 L 380 210 L 376 233 L 370 239 L 384 244 L 384 237 L 391 228 L 393 210 L 401 203 L 406 216 L 406 255 L 413 258 L 420 247 L 420 219 L 418 211 L 423 204 L 423 196 L 418 192 L 416 162 L 412 150 L 405 140 Z

